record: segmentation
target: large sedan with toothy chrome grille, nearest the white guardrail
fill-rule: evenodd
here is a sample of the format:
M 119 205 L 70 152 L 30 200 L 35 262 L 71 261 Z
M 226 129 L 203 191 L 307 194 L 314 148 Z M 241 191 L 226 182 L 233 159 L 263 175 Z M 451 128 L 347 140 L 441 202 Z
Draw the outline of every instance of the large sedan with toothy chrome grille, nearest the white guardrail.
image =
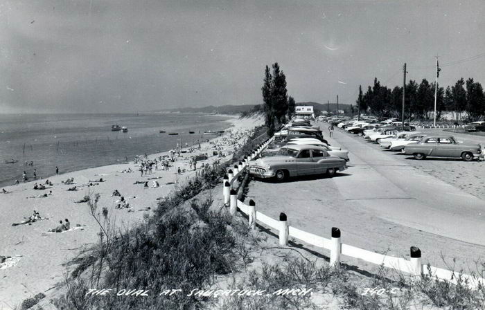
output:
M 292 176 L 327 174 L 347 169 L 346 161 L 332 156 L 322 147 L 290 145 L 281 147 L 276 156 L 249 161 L 249 174 L 257 178 L 283 181 Z

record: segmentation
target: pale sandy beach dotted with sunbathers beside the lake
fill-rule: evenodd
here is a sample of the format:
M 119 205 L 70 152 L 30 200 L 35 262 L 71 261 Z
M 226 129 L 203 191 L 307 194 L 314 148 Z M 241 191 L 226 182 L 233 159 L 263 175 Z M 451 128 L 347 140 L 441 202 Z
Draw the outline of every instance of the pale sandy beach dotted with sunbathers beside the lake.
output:
M 141 176 L 139 164 L 130 161 L 52 176 L 48 179 L 53 185 L 47 185 L 45 190 L 33 189 L 35 182 L 44 184 L 45 179 L 3 188 L 10 193 L 0 196 L 0 255 L 10 258 L 6 261 L 8 264 L 0 265 L 0 309 L 13 309 L 22 300 L 37 293 L 47 295 L 66 276 L 67 267 L 64 264 L 76 257 L 82 248 L 98 241 L 100 228 L 91 217 L 87 203 L 75 201 L 87 194 L 100 194 L 98 206 L 107 208 L 111 221 L 121 230 L 130 228 L 149 215 L 157 207 L 157 199 L 170 194 L 175 183 L 182 183 L 195 174 L 195 171 L 189 171 L 191 156 L 205 153 L 209 155 L 207 160 L 197 162 L 197 169 L 205 163 L 229 160 L 237 145 L 234 143 L 244 142 L 243 138 L 234 141 L 231 136 L 243 136 L 244 132 L 261 125 L 263 119 L 232 117 L 228 122 L 231 122 L 232 127 L 227 129 L 226 134 L 213 138 L 210 143 L 202 143 L 201 149 L 196 149 L 195 152 L 182 153 L 168 171 L 152 170 L 152 174 Z M 207 138 L 212 137 L 208 135 Z M 213 156 L 214 145 L 222 147 L 226 156 Z M 154 160 L 167 154 L 168 152 L 151 154 L 148 159 Z M 181 170 L 186 169 L 186 172 L 177 174 L 179 167 Z M 122 172 L 128 169 L 133 172 Z M 62 183 L 69 178 L 73 178 L 75 184 Z M 104 181 L 92 182 L 100 178 Z M 145 188 L 143 183 L 137 181 L 149 181 L 150 187 Z M 158 181 L 160 187 L 151 188 L 153 181 Z M 88 186 L 89 183 L 94 185 Z M 77 190 L 68 191 L 73 186 Z M 114 190 L 118 190 L 125 197 L 130 208 L 115 208 L 120 197 L 112 197 Z M 51 195 L 37 198 L 49 191 L 52 191 Z M 30 217 L 34 210 L 46 219 L 30 225 L 12 226 L 12 223 L 19 223 Z M 71 228 L 74 229 L 63 233 L 47 233 L 64 219 L 69 219 Z

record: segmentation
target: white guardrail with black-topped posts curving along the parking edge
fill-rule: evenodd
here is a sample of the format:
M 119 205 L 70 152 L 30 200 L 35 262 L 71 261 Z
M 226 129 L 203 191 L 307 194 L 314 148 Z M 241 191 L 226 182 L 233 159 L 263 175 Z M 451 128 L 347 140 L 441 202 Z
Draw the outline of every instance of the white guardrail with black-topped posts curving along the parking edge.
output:
M 409 273 L 412 277 L 421 275 L 432 275 L 439 280 L 448 280 L 453 284 L 457 284 L 461 279 L 468 285 L 470 289 L 477 289 L 479 286 L 485 285 L 485 279 L 455 271 L 448 271 L 443 268 L 436 268 L 422 264 L 421 250 L 416 246 L 411 246 L 409 250 L 409 260 L 401 257 L 394 257 L 389 255 L 382 255 L 374 253 L 369 250 L 357 248 L 349 244 L 342 244 L 340 241 L 342 232 L 339 228 L 333 227 L 330 231 L 330 239 L 320 237 L 312 233 L 300 230 L 299 228 L 288 225 L 288 217 L 281 212 L 279 220 L 272 219 L 267 215 L 256 210 L 256 203 L 253 200 L 249 201 L 249 205 L 237 199 L 237 192 L 231 188 L 233 181 L 238 179 L 238 176 L 249 166 L 249 161 L 258 156 L 271 143 L 273 138 L 268 139 L 265 143 L 258 145 L 256 150 L 250 156 L 245 156 L 244 162 L 239 162 L 233 165 L 233 169 L 228 170 L 223 179 L 224 204 L 229 206 L 231 215 L 236 215 L 237 210 L 245 213 L 248 216 L 248 224 L 252 229 L 256 229 L 256 223 L 263 224 L 278 231 L 279 244 L 281 246 L 288 246 L 289 237 L 299 239 L 300 241 L 330 250 L 330 265 L 338 266 L 340 264 L 340 257 L 342 255 L 362 259 L 376 265 L 382 265 L 387 268 L 393 268 L 404 273 Z

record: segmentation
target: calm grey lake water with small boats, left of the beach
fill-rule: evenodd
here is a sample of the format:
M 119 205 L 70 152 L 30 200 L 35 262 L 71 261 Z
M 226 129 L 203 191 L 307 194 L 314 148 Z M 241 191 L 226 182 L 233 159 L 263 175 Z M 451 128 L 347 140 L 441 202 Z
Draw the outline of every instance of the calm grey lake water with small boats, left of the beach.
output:
M 229 127 L 227 118 L 200 114 L 57 114 L 0 115 L 0 187 L 22 181 L 22 172 L 38 177 L 120 163 L 125 158 L 163 152 L 182 143 L 192 145 L 207 130 Z M 118 124 L 127 133 L 111 131 Z M 163 129 L 166 134 L 160 134 Z M 195 134 L 188 134 L 195 131 Z M 179 133 L 177 136 L 169 132 Z M 25 147 L 24 147 L 25 145 Z M 11 158 L 19 162 L 6 164 Z M 24 165 L 33 161 L 33 166 Z

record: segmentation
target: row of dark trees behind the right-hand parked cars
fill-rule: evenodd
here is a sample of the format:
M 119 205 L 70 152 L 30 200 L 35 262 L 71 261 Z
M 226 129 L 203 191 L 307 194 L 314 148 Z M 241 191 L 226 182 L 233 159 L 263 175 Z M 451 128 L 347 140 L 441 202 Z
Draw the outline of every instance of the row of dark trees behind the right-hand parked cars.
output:
M 395 86 L 389 89 L 382 86 L 377 78 L 373 86 L 359 95 L 356 104 L 360 104 L 362 113 L 369 112 L 376 116 L 400 118 L 403 104 L 403 87 Z M 355 108 L 353 108 L 356 110 Z M 443 111 L 449 111 L 455 120 L 461 119 L 466 112 L 468 120 L 477 120 L 485 114 L 485 94 L 482 85 L 473 78 L 464 81 L 459 79 L 455 85 L 446 89 L 439 86 L 436 93 L 436 118 L 439 119 Z M 415 120 L 429 120 L 434 112 L 434 82 L 423 79 L 420 84 L 410 80 L 405 91 L 406 118 Z

